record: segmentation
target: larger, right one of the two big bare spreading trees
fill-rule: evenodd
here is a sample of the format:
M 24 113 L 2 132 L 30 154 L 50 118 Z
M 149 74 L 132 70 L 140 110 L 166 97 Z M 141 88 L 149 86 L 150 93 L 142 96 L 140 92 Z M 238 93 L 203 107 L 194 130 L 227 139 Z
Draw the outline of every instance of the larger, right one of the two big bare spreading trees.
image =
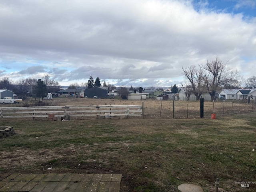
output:
M 204 81 L 212 101 L 217 91 L 223 86 L 231 86 L 236 83 L 236 80 L 240 76 L 238 71 L 230 70 L 227 63 L 228 61 L 224 63 L 216 57 L 210 62 L 207 60 L 205 65 L 200 65 L 205 70 Z

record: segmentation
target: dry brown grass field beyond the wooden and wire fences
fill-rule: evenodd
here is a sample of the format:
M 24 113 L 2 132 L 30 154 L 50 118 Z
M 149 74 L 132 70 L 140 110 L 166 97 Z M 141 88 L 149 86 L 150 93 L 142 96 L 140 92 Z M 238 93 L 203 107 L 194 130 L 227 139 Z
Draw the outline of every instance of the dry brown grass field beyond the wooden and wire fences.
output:
M 31 102 L 31 100 L 25 101 Z M 175 101 L 173 106 L 172 100 L 122 100 L 122 99 L 92 99 L 76 97 L 59 97 L 45 101 L 52 106 L 66 105 L 140 105 L 144 104 L 145 118 L 200 118 L 199 101 Z M 204 101 L 204 118 L 211 118 L 211 114 L 216 114 L 216 118 L 227 114 L 237 114 L 244 112 L 254 112 L 256 109 L 255 102 L 250 104 L 245 101 L 226 100 L 225 103 L 220 101 Z

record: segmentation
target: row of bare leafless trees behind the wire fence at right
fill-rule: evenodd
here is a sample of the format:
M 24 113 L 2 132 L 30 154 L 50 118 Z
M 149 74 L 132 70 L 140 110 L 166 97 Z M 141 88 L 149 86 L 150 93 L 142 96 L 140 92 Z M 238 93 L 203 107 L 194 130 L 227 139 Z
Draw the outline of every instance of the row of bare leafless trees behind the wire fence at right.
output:
M 182 66 L 182 70 L 185 82 L 181 85 L 188 100 L 191 94 L 199 100 L 203 93 L 209 93 L 213 101 L 215 94 L 221 89 L 241 88 L 242 84 L 245 88 L 256 87 L 255 76 L 247 80 L 242 78 L 239 71 L 228 68 L 228 61 L 222 62 L 218 57 L 212 61 L 207 60 L 206 64 L 191 65 L 186 68 Z

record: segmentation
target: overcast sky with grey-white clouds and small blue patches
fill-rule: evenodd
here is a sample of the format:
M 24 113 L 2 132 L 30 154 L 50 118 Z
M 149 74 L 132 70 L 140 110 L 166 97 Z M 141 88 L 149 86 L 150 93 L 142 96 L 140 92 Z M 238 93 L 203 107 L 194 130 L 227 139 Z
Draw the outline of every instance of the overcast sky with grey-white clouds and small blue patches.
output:
M 256 75 L 256 0 L 1 0 L 0 78 L 171 86 L 219 57 Z

